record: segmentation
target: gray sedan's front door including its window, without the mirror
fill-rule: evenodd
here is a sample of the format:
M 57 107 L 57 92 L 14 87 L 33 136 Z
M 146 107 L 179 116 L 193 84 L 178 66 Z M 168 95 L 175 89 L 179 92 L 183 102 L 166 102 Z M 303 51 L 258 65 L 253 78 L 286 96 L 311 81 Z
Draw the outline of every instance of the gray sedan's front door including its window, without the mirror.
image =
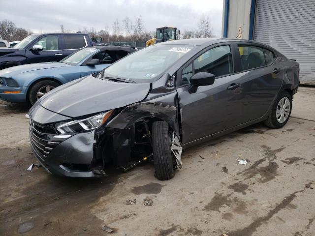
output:
M 191 76 L 198 72 L 216 76 L 215 83 L 199 86 L 189 93 Z M 177 78 L 181 110 L 183 144 L 218 133 L 242 123 L 239 118 L 242 106 L 242 90 L 239 74 L 233 73 L 232 54 L 229 45 L 212 48 L 184 66 Z

